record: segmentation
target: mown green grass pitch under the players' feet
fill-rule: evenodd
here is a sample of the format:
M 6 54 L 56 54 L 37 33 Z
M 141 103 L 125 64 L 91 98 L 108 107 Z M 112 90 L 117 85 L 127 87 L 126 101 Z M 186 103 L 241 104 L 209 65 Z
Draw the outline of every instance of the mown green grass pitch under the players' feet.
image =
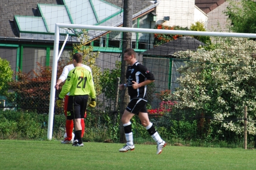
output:
M 136 144 L 119 153 L 123 144 L 84 142 L 72 147 L 58 141 L 0 140 L 1 170 L 246 170 L 256 167 L 256 150 Z

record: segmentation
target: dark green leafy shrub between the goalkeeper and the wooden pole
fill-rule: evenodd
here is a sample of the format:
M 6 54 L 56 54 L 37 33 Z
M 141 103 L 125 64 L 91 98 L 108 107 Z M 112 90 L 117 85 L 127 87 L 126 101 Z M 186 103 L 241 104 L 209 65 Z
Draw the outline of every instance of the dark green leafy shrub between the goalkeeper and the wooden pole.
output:
M 116 83 L 117 77 L 121 77 L 121 62 L 116 61 L 116 68 L 112 70 L 104 69 L 100 75 L 99 85 L 102 87 L 102 93 L 105 94 L 106 100 L 116 100 Z

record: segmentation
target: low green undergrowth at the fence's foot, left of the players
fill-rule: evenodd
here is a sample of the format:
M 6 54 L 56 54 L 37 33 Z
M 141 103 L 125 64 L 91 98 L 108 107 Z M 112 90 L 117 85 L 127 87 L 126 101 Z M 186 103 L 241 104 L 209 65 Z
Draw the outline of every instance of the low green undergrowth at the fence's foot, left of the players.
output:
M 0 139 L 46 139 L 47 126 L 47 114 L 0 111 Z M 53 138 L 61 138 L 64 128 L 65 116 L 55 115 Z

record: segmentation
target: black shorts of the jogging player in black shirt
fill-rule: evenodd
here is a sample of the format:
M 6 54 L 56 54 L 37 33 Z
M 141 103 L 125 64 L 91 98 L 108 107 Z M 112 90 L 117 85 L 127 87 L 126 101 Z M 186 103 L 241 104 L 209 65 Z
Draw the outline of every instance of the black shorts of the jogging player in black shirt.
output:
M 144 99 L 141 99 L 141 98 L 131 99 L 126 110 L 134 114 L 139 114 L 139 112 L 148 113 L 146 104 L 147 104 L 147 101 Z

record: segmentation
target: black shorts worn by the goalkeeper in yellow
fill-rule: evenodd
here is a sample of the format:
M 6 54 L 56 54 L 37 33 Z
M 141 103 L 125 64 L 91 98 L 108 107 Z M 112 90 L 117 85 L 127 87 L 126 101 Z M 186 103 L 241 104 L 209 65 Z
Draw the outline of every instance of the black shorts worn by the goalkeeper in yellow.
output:
M 67 119 L 84 119 L 88 95 L 69 96 L 67 103 Z

